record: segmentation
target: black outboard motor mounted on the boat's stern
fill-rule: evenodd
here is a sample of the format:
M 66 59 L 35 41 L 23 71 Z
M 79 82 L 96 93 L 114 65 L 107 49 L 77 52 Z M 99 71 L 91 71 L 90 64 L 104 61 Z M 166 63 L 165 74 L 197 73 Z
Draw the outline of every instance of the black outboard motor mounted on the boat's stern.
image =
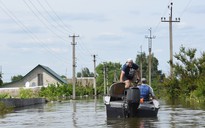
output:
M 128 116 L 134 117 L 140 104 L 140 89 L 138 87 L 130 87 L 126 90 L 126 93 Z

